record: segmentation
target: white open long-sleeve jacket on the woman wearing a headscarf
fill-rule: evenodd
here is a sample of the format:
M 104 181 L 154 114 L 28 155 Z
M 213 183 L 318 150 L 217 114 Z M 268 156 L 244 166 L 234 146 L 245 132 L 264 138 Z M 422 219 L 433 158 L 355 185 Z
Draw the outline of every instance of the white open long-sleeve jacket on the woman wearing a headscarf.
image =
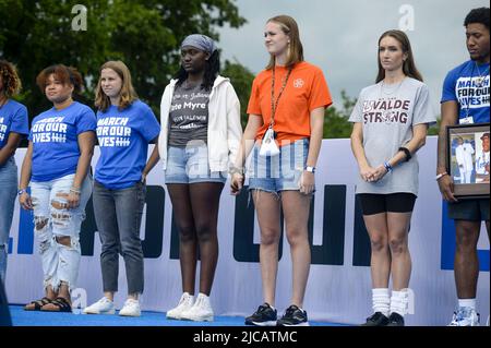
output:
M 169 111 L 177 80 L 171 80 L 160 103 L 160 135 L 158 153 L 163 168 L 167 168 L 167 142 L 169 137 Z M 211 171 L 228 171 L 233 164 L 242 137 L 240 103 L 230 80 L 217 76 L 208 103 L 208 160 Z

